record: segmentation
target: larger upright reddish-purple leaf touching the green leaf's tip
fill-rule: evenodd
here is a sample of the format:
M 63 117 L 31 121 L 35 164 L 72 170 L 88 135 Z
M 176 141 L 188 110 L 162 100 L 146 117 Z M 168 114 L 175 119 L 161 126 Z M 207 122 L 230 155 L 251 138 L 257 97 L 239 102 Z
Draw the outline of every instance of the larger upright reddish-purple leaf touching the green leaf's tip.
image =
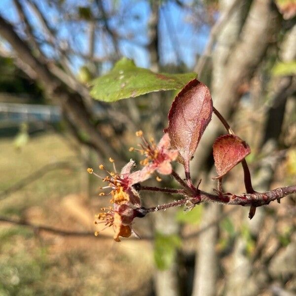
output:
M 176 96 L 169 112 L 169 133 L 171 147 L 178 149 L 178 161 L 189 166 L 200 138 L 209 124 L 213 102 L 209 88 L 193 79 Z

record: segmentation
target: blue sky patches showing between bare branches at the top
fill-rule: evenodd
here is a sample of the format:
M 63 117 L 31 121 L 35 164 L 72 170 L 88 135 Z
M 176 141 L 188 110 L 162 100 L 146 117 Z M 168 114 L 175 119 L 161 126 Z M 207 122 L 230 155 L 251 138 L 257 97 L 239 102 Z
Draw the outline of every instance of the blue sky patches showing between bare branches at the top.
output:
M 36 1 L 36 0 L 35 0 Z M 25 0 L 22 0 L 25 3 Z M 67 40 L 75 51 L 87 53 L 87 22 L 71 22 L 62 19 L 58 10 L 53 5 L 48 6 L 45 0 L 36 1 L 43 14 L 47 18 L 51 26 L 57 30 L 60 40 Z M 67 13 L 77 14 L 79 5 L 85 6 L 86 0 L 65 0 Z M 192 68 L 196 62 L 196 55 L 203 52 L 205 44 L 209 36 L 209 27 L 201 26 L 194 28 L 189 22 L 186 22 L 190 12 L 182 10 L 173 1 L 164 1 L 160 8 L 160 52 L 161 63 L 178 63 L 184 62 L 188 68 Z M 188 2 L 184 0 L 184 2 Z M 148 20 L 150 9 L 148 1 L 145 0 L 107 0 L 104 1 L 105 9 L 111 11 L 111 3 L 117 3 L 116 10 L 122 15 L 122 18 L 116 16 L 111 17 L 109 24 L 111 28 L 116 29 L 119 34 L 133 34 L 133 42 L 130 40 L 120 40 L 119 48 L 123 56 L 135 60 L 137 66 L 148 68 L 149 55 L 148 51 L 139 44 L 148 44 Z M 36 18 L 32 11 L 25 5 L 25 12 L 30 16 L 29 20 L 36 28 L 35 34 L 42 36 L 38 29 Z M 12 0 L 0 0 L 0 14 L 4 18 L 19 25 L 16 10 Z M 192 17 L 192 15 L 191 15 Z M 20 28 L 20 27 L 18 27 Z M 101 30 L 96 32 L 96 55 L 102 57 L 112 54 L 111 40 L 101 34 Z M 100 40 L 104 40 L 101 42 Z M 139 43 L 139 44 L 138 44 Z M 105 45 L 104 45 L 105 44 Z M 106 46 L 107 44 L 107 46 Z M 42 46 L 43 51 L 48 56 L 54 56 L 54 50 L 48 46 Z M 72 67 L 74 71 L 84 65 L 85 61 L 77 56 L 72 56 Z M 110 63 L 103 64 L 103 71 L 108 71 L 111 67 Z

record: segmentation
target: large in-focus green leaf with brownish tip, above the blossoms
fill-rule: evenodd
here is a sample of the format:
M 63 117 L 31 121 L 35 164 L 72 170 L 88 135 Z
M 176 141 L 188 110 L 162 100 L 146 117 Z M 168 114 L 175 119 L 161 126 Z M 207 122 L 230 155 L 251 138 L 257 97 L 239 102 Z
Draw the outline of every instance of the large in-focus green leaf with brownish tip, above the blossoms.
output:
M 90 95 L 100 101 L 115 102 L 153 91 L 181 89 L 196 73 L 154 73 L 138 68 L 132 60 L 122 58 L 106 75 L 94 79 Z

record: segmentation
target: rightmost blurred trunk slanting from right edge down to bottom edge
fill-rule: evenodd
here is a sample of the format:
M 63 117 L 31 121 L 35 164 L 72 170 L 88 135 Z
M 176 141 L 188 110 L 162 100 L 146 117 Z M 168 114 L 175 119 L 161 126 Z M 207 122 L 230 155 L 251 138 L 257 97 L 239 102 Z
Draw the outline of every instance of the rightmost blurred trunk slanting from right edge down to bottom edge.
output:
M 285 62 L 292 61 L 296 56 L 296 26 L 287 34 L 286 40 L 282 44 L 282 60 Z M 291 88 L 292 77 L 281 77 L 276 79 L 275 90 L 273 91 L 272 102 L 273 105 L 268 111 L 268 116 L 265 125 L 265 132 L 263 134 L 261 153 L 270 155 L 278 148 L 278 140 L 283 124 L 285 107 L 289 89 Z M 255 188 L 259 191 L 266 191 L 269 189 L 273 180 L 274 171 L 278 164 L 277 159 L 273 161 L 266 161 L 262 164 L 257 173 Z M 254 219 L 249 222 L 250 230 L 254 238 L 259 236 L 261 225 L 265 218 L 263 209 L 259 208 L 256 211 Z M 262 283 L 257 284 L 256 275 L 252 274 L 252 261 L 245 256 L 246 242 L 242 237 L 238 237 L 235 243 L 232 255 L 232 270 L 228 277 L 226 294 L 229 296 L 252 296 L 259 293 Z M 267 266 L 264 270 L 266 273 Z M 246 286 L 247 283 L 247 286 Z M 245 287 L 245 289 L 243 289 Z

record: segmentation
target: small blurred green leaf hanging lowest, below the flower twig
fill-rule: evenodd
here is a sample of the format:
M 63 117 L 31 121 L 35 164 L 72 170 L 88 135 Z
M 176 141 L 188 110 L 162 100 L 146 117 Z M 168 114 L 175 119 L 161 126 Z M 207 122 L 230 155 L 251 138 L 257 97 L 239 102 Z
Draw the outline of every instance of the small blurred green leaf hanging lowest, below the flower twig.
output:
M 157 232 L 154 241 L 154 260 L 160 270 L 168 269 L 174 261 L 176 251 L 181 247 L 178 235 L 165 235 Z

